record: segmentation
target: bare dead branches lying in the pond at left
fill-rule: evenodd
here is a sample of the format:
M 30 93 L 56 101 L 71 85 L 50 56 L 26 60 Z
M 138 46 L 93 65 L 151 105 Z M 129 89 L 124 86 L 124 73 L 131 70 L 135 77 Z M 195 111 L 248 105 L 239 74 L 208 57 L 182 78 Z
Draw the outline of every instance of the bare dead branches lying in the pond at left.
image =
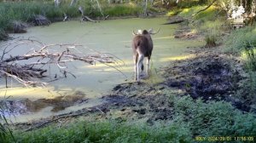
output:
M 13 51 L 20 46 L 32 47 L 26 54 L 14 55 Z M 86 47 L 85 47 L 86 48 Z M 34 39 L 18 40 L 14 44 L 3 46 L 2 55 L 0 55 L 0 77 L 11 77 L 26 87 L 39 86 L 44 87 L 51 81 L 58 80 L 67 75 L 73 75 L 67 71 L 67 62 L 74 60 L 83 61 L 90 65 L 96 62 L 115 67 L 119 65 L 119 59 L 113 57 L 112 54 L 102 54 L 92 49 L 85 49 L 83 45 L 67 43 L 67 44 L 44 44 Z M 22 63 L 22 64 L 21 64 Z M 50 75 L 50 66 L 55 66 L 59 70 L 55 75 Z M 49 72 L 49 75 L 45 73 Z M 42 77 L 54 77 L 49 82 L 41 82 Z

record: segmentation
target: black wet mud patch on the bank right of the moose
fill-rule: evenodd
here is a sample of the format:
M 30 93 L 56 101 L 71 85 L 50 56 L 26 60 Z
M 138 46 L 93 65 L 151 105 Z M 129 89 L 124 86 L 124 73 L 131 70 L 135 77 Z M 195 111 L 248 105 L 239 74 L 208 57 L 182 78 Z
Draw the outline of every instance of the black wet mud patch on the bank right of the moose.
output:
M 225 100 L 241 111 L 249 112 L 250 104 L 236 97 L 247 79 L 242 61 L 221 53 L 220 49 L 191 50 L 197 55 L 195 58 L 173 61 L 164 69 L 165 85 L 181 89 L 194 99 Z

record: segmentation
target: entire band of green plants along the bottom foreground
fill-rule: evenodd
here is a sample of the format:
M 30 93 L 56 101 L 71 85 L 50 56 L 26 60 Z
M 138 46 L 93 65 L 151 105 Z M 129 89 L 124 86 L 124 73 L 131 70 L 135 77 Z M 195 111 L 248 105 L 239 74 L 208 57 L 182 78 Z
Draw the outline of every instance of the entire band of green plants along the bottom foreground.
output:
M 115 119 L 52 124 L 31 132 L 15 131 L 15 142 L 191 142 L 196 136 L 256 136 L 256 117 L 224 101 L 171 96 L 174 115 L 154 125 Z M 9 142 L 13 140 L 9 138 Z

